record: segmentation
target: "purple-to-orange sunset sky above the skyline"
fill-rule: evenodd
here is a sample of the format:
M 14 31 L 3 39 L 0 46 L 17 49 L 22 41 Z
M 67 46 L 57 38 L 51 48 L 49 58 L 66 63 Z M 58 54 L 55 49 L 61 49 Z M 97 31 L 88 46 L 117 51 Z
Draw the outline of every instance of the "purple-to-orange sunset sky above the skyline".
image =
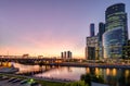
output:
M 130 0 L 0 0 L 0 54 L 84 58 L 90 23 L 104 22 L 107 7 Z M 130 32 L 130 29 L 129 29 Z

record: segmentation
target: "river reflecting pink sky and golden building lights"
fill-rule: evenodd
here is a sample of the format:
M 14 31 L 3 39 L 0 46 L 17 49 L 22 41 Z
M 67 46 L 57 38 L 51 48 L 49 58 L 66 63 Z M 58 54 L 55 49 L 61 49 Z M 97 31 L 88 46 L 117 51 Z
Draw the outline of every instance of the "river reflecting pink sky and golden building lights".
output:
M 127 86 L 130 83 L 130 70 L 122 69 L 99 69 L 99 67 L 74 67 L 74 66 L 39 66 L 39 65 L 24 65 L 14 63 L 14 66 L 20 67 L 18 73 L 26 73 L 31 71 L 43 70 L 38 74 L 32 74 L 37 77 L 50 78 L 67 78 L 79 81 L 82 74 L 93 74 L 101 76 L 110 86 Z

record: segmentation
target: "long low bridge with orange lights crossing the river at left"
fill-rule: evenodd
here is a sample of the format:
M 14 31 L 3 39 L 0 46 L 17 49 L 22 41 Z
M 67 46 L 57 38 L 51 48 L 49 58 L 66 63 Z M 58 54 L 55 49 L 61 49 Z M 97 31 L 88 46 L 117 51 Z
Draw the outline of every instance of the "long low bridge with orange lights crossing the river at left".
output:
M 48 63 L 62 63 L 64 59 L 56 58 L 34 58 L 34 57 L 17 57 L 17 56 L 0 56 L 0 62 L 17 62 L 26 64 L 48 64 Z

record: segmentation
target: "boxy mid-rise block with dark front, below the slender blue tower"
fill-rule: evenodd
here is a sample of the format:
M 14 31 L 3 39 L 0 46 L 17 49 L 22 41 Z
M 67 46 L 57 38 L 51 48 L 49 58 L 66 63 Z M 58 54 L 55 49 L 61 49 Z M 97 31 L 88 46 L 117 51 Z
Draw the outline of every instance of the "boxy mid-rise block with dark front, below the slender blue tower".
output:
M 86 59 L 98 60 L 99 59 L 99 37 L 87 37 Z

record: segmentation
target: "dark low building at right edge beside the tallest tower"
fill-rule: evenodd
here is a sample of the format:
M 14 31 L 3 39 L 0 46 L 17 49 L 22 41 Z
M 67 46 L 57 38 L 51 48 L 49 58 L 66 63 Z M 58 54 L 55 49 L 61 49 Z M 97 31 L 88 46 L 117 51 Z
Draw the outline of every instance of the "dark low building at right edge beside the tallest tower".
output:
M 122 46 L 122 59 L 130 59 L 130 40 Z

